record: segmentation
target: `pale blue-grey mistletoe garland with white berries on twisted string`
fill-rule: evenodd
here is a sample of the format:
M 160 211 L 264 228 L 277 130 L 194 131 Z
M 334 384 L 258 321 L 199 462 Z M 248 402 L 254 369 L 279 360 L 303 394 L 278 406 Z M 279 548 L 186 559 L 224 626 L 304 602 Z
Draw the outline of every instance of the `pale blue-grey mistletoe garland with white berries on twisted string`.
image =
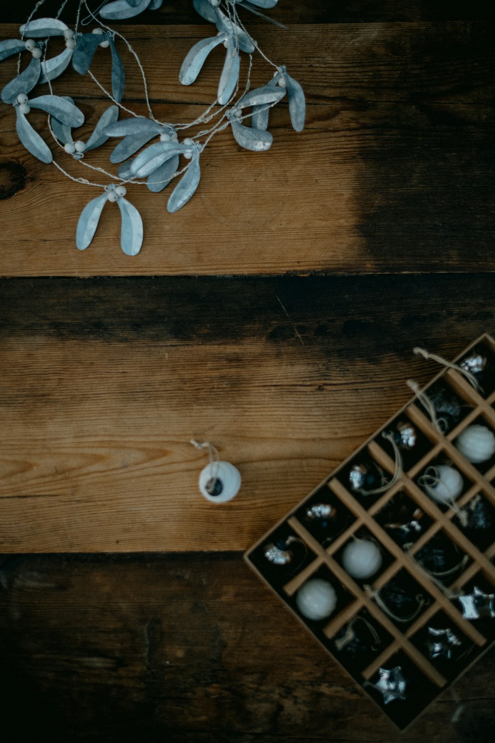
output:
M 45 0 L 37 2 L 35 10 Z M 135 256 L 142 245 L 142 219 L 126 198 L 126 186 L 145 185 L 151 192 L 161 192 L 174 178 L 177 185 L 167 201 L 168 212 L 182 209 L 194 195 L 200 183 L 200 155 L 214 134 L 230 127 L 236 142 L 252 152 L 265 152 L 272 146 L 273 137 L 268 131 L 269 111 L 285 96 L 289 100 L 289 115 L 293 129 L 301 132 L 304 128 L 306 103 L 301 85 L 288 74 L 284 65 L 271 62 L 252 39 L 240 16 L 237 7 L 266 16 L 261 10 L 275 7 L 278 0 L 193 0 L 194 8 L 200 16 L 213 23 L 217 29 L 215 36 L 201 39 L 186 54 L 179 72 L 183 85 L 192 85 L 203 68 L 207 57 L 216 48 L 224 48 L 225 60 L 217 87 L 217 98 L 211 106 L 194 122 L 176 124 L 158 121 L 151 111 L 145 74 L 139 57 L 128 41 L 115 30 L 103 25 L 94 27 L 91 32 L 82 33 L 81 27 L 88 22 L 97 21 L 95 13 L 105 20 L 133 18 L 143 10 L 157 10 L 163 0 L 114 0 L 104 2 L 94 12 L 88 7 L 88 0 L 78 0 L 74 30 L 60 20 L 68 0 L 65 0 L 55 18 L 33 19 L 33 13 L 20 28 L 20 39 L 7 39 L 0 42 L 0 61 L 14 54 L 19 55 L 18 74 L 2 88 L 0 97 L 16 112 L 16 132 L 22 145 L 35 158 L 44 163 L 53 163 L 71 180 L 98 187 L 102 193 L 92 199 L 82 210 L 76 229 L 76 246 L 85 250 L 96 233 L 99 218 L 107 201 L 117 203 L 122 217 L 120 244 L 124 253 Z M 81 20 L 82 11 L 88 12 Z M 271 19 L 268 19 L 271 20 Z M 275 22 L 274 22 L 275 23 Z M 281 25 L 278 24 L 277 25 Z M 62 37 L 65 49 L 55 56 L 48 56 L 51 40 Z M 117 51 L 117 42 L 123 42 L 134 54 L 142 73 L 148 117 L 134 114 L 122 105 L 125 92 L 125 69 Z M 96 80 L 91 72 L 91 64 L 98 48 L 110 48 L 111 92 Z M 261 88 L 249 89 L 249 73 L 252 55 L 258 51 L 275 68 L 272 80 Z M 241 53 L 249 55 L 247 80 L 239 94 Z M 21 72 L 22 56 L 30 54 L 30 62 Z M 72 63 L 73 69 L 81 75 L 89 74 L 94 82 L 107 94 L 112 105 L 100 117 L 93 133 L 87 141 L 73 136 L 73 129 L 84 123 L 84 115 L 68 96 L 54 95 L 51 81 L 61 76 Z M 28 94 L 36 85 L 47 84 L 49 94 L 30 98 Z M 74 177 L 56 160 L 39 132 L 31 126 L 27 116 L 31 108 L 39 108 L 48 116 L 48 126 L 54 143 L 71 155 L 73 160 L 102 172 L 118 184 L 96 184 L 86 178 Z M 130 118 L 119 120 L 119 108 L 131 113 Z M 193 137 L 179 140 L 179 134 L 191 126 L 212 125 Z M 110 161 L 119 164 L 117 175 L 91 165 L 85 155 L 104 144 L 109 137 L 121 137 L 110 155 Z M 151 140 L 156 140 L 151 143 Z M 181 160 L 185 164 L 181 167 Z M 145 179 L 140 180 L 140 179 Z

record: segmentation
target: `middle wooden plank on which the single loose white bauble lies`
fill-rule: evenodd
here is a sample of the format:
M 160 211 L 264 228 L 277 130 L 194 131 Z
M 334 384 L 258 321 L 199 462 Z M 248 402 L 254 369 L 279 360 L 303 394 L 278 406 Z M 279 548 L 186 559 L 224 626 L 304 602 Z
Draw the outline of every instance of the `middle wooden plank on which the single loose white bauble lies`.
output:
M 247 548 L 436 373 L 413 346 L 494 330 L 490 276 L 0 290 L 2 552 Z M 192 436 L 240 469 L 225 507 Z

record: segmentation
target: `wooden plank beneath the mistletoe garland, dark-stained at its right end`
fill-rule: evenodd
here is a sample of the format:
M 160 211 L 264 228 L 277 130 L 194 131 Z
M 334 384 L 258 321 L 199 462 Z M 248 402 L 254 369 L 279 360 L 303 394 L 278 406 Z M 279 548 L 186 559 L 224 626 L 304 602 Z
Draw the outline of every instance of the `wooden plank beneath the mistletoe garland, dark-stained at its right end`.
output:
M 132 33 L 151 69 L 157 115 L 196 116 L 212 100 L 220 58 L 197 85 L 173 81 L 204 27 L 137 27 Z M 272 114 L 274 145 L 263 155 L 241 150 L 230 132 L 219 134 L 202 156 L 197 194 L 176 215 L 165 210 L 166 192 L 129 189 L 145 226 L 142 252 L 134 258 L 122 255 L 119 214 L 111 205 L 94 243 L 84 253 L 76 250 L 77 219 L 99 189 L 72 184 L 34 160 L 17 140 L 12 110 L 2 107 L 0 274 L 494 270 L 490 27 L 315 25 L 304 28 L 304 43 L 297 31 L 283 33 L 260 27 L 265 36 L 259 40 L 267 42 L 270 56 L 297 70 L 309 100 L 306 130 L 295 134 L 281 105 Z M 166 74 L 151 63 L 165 43 L 171 45 Z M 105 65 L 99 51 L 96 71 Z M 2 63 L 6 79 L 14 69 L 14 60 Z M 266 74 L 266 68 L 255 72 L 255 84 Z M 105 75 L 108 69 L 102 80 Z M 129 80 L 131 103 L 145 113 L 142 90 L 132 82 L 137 78 Z M 75 73 L 67 81 L 84 96 L 83 136 L 105 107 L 89 97 L 95 91 L 90 83 Z M 54 89 L 66 94 L 65 85 L 56 81 Z M 44 114 L 30 118 L 43 129 Z M 111 146 L 91 162 L 106 166 Z M 65 155 L 56 158 L 73 175 L 98 175 Z

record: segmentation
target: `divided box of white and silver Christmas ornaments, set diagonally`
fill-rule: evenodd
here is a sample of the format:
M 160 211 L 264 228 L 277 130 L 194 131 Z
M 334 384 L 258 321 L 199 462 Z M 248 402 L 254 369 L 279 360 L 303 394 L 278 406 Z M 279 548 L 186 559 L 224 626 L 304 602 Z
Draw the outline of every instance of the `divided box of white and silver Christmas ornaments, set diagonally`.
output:
M 401 730 L 495 640 L 493 338 L 455 363 L 245 554 Z

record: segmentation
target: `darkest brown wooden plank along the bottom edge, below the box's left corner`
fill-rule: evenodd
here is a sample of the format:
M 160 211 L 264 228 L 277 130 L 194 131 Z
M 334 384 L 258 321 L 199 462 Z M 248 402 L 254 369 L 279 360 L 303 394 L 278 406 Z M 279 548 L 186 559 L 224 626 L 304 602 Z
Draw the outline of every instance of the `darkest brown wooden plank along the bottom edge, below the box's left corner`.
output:
M 6 743 L 480 743 L 494 652 L 399 734 L 239 554 L 30 556 L 0 572 Z M 460 710 L 459 710 L 460 711 Z

